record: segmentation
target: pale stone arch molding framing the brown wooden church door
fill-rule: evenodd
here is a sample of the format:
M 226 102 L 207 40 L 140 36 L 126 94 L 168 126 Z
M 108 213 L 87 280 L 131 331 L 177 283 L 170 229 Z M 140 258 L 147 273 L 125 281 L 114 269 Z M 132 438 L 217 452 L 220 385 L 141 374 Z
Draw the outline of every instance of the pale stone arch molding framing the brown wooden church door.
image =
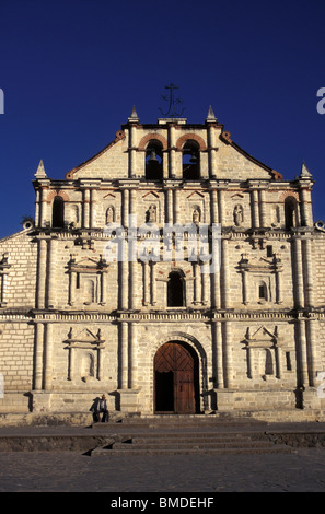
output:
M 208 409 L 208 370 L 207 370 L 207 353 L 204 348 L 204 343 L 206 343 L 206 348 L 211 347 L 211 341 L 207 337 L 201 337 L 201 342 L 193 335 L 186 334 L 178 330 L 173 330 L 170 334 L 164 335 L 162 338 L 158 338 L 155 344 L 152 346 L 152 353 L 151 353 L 151 376 L 154 376 L 154 358 L 158 350 L 163 347 L 166 342 L 185 342 L 187 343 L 197 354 L 198 358 L 198 383 L 199 383 L 199 397 L 200 397 L 200 410 Z M 151 387 L 151 405 L 154 404 L 154 392 L 153 387 Z

